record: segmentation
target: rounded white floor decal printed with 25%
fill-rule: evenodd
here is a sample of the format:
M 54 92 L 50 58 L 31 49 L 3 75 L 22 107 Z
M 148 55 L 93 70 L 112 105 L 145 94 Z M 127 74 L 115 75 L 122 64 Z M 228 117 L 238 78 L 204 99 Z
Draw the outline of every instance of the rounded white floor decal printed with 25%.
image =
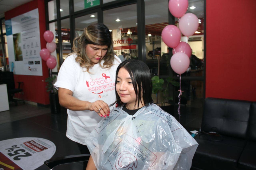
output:
M 54 143 L 43 138 L 15 138 L 0 141 L 0 169 L 34 170 L 56 151 Z

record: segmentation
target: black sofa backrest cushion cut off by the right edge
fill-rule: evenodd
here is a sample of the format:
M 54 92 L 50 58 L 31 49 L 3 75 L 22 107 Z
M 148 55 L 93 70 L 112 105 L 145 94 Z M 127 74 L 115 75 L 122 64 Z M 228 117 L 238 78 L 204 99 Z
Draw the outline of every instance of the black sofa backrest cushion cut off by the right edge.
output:
M 256 142 L 256 102 L 252 103 L 249 129 L 248 129 L 248 139 L 250 141 Z

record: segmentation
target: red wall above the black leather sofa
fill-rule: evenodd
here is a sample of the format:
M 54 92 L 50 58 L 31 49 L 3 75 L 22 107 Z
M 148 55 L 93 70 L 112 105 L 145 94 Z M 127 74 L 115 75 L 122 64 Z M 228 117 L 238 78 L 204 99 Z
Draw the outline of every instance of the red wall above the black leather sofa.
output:
M 206 1 L 206 97 L 256 101 L 256 1 Z

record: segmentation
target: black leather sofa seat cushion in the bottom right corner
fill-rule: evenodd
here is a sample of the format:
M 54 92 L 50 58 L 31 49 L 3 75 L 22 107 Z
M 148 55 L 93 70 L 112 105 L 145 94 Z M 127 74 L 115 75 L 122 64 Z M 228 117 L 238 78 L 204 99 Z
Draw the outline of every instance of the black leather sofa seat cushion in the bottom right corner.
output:
M 256 142 L 248 141 L 238 161 L 240 169 L 256 169 Z

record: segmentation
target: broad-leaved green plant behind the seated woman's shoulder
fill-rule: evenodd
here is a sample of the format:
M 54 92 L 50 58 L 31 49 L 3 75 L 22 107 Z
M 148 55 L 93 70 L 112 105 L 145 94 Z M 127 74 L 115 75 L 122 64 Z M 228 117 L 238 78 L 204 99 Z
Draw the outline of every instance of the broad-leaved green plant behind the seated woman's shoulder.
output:
M 168 113 L 171 111 L 171 106 L 166 106 L 166 102 L 169 100 L 173 100 L 173 97 L 168 96 L 169 95 L 169 84 L 172 84 L 173 86 L 179 86 L 179 83 L 175 81 L 172 77 L 166 78 L 167 85 L 164 87 L 164 79 L 159 79 L 158 76 L 152 77 L 152 92 L 157 95 L 157 102 L 158 97 L 160 97 L 160 107 L 167 111 Z

